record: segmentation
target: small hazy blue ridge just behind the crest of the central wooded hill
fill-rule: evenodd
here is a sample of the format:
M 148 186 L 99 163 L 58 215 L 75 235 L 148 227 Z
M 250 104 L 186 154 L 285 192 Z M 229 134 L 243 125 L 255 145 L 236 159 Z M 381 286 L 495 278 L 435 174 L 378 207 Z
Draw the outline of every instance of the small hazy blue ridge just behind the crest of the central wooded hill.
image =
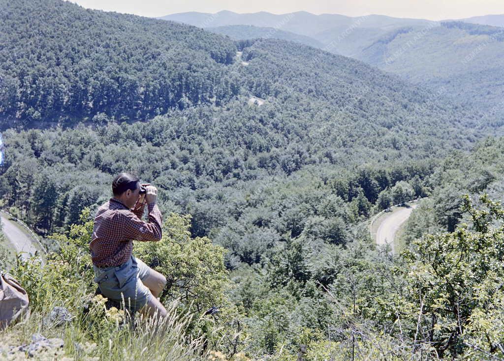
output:
M 216 28 L 207 28 L 206 30 L 216 34 L 227 35 L 234 40 L 272 38 L 293 41 L 296 43 L 312 46 L 314 48 L 324 47 L 324 44 L 322 44 L 320 41 L 308 36 L 298 35 L 289 31 L 283 31 L 275 28 L 261 28 L 253 25 L 228 25 L 219 26 Z

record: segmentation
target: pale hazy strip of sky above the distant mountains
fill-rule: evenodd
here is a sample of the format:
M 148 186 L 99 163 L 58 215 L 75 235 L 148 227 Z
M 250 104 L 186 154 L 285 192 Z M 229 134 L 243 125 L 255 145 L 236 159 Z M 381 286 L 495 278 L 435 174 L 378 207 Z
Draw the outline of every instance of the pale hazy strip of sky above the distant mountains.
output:
M 160 17 L 198 11 L 236 13 L 267 11 L 274 14 L 307 11 L 313 14 L 369 14 L 430 20 L 461 19 L 504 14 L 504 0 L 72 0 L 85 8 Z

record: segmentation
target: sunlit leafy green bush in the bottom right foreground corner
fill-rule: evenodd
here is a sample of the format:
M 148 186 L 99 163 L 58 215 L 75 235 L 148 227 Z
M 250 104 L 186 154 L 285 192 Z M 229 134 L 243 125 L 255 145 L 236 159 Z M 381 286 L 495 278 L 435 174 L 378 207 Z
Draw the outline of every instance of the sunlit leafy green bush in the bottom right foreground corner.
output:
M 439 357 L 476 351 L 504 356 L 504 318 L 497 311 L 504 299 L 504 208 L 486 195 L 480 201 L 487 209 L 475 208 L 469 197 L 463 202 L 472 227 L 428 235 L 416 242 L 415 252 L 405 252 L 411 269 L 406 303 L 419 308 L 418 339 Z

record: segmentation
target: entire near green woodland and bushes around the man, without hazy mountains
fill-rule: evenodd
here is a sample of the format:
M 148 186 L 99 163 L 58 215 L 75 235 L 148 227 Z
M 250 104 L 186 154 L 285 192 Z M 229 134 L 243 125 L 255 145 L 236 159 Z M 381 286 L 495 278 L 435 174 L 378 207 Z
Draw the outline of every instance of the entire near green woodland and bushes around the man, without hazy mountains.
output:
M 478 198 L 504 188 L 504 140 L 484 140 L 498 122 L 294 42 L 0 6 L 1 202 L 54 251 L 13 267 L 35 314 L 82 312 L 93 212 L 127 171 L 159 188 L 165 219 L 135 253 L 170 279 L 162 302 L 196 315 L 188 334 L 225 357 L 503 356 L 504 328 L 488 326 L 502 322 L 502 209 Z M 369 216 L 426 196 L 407 249 L 377 250 Z M 73 330 L 112 352 L 122 328 L 86 317 Z

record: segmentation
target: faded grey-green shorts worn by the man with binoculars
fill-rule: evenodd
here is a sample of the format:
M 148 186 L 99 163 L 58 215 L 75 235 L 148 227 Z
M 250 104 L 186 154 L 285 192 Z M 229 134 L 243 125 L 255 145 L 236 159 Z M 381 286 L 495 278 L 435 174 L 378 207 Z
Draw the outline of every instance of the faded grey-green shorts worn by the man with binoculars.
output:
M 152 294 L 142 280 L 149 276 L 150 268 L 142 260 L 131 256 L 119 266 L 99 268 L 93 265 L 93 269 L 94 281 L 98 283 L 102 295 L 124 303 L 132 315 L 149 302 Z

